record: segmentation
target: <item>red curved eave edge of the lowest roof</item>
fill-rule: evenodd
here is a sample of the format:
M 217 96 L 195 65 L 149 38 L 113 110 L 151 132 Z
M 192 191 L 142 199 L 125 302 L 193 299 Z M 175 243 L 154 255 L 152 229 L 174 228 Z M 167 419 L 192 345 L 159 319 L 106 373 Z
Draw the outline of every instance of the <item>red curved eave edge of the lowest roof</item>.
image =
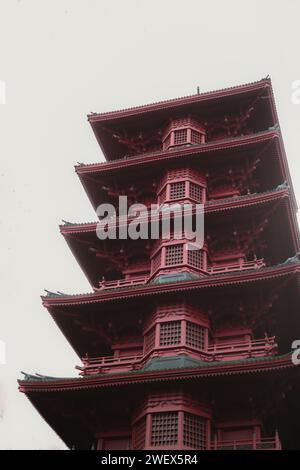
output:
M 272 370 L 297 367 L 291 360 L 291 354 L 274 356 L 259 361 L 236 361 L 231 364 L 215 364 L 205 367 L 169 369 L 151 372 L 127 372 L 118 374 L 103 374 L 94 377 L 64 378 L 51 380 L 19 380 L 19 389 L 26 394 L 33 392 L 65 392 L 68 390 L 88 390 L 137 383 L 162 382 L 168 380 L 188 380 L 224 375 L 253 374 Z

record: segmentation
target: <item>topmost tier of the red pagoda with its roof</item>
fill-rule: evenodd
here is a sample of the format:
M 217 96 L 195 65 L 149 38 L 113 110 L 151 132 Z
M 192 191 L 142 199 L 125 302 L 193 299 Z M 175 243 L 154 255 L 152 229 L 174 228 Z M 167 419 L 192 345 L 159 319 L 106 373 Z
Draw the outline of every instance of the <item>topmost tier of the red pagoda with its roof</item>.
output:
M 88 115 L 106 160 L 204 145 L 277 124 L 270 79 Z

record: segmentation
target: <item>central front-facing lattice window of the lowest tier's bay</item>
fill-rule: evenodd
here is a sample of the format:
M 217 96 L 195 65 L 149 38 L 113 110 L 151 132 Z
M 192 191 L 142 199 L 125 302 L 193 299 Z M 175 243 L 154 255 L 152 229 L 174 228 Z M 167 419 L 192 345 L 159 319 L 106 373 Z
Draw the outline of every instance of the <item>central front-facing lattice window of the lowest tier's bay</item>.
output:
M 178 413 L 153 413 L 152 446 L 170 446 L 177 444 L 178 441 Z

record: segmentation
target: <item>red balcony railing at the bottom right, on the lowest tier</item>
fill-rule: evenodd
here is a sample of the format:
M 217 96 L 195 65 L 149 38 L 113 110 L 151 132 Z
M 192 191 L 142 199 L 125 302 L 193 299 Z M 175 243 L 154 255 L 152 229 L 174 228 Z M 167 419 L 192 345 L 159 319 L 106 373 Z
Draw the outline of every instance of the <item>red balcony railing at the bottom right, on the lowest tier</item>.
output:
M 251 440 L 214 441 L 211 443 L 211 450 L 281 450 L 281 443 L 278 436 Z

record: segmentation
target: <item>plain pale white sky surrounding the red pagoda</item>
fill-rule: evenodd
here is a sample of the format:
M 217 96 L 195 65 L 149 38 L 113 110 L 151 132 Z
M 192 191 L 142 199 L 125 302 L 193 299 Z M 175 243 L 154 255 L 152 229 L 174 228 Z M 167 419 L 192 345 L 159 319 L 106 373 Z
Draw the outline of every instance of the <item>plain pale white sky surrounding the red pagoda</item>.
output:
M 95 219 L 73 169 L 103 160 L 86 114 L 270 74 L 299 200 L 299 19 L 299 0 L 0 0 L 0 448 L 64 448 L 16 380 L 79 363 L 39 296 L 90 291 L 58 230 Z

